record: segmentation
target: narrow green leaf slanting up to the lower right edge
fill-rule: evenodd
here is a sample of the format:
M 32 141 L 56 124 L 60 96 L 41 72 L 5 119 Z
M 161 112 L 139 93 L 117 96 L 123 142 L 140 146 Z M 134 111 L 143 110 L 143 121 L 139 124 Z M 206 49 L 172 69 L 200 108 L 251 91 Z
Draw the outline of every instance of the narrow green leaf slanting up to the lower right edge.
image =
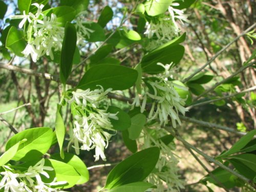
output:
M 219 155 L 217 158 L 224 158 L 226 156 L 240 152 L 240 150 L 244 146 L 246 146 L 247 143 L 250 142 L 250 140 L 254 137 L 255 134 L 256 134 L 256 130 L 252 130 L 252 131 L 248 132 L 246 135 L 241 137 L 241 139 L 239 139 L 236 143 L 234 143 L 234 145 L 228 151 Z

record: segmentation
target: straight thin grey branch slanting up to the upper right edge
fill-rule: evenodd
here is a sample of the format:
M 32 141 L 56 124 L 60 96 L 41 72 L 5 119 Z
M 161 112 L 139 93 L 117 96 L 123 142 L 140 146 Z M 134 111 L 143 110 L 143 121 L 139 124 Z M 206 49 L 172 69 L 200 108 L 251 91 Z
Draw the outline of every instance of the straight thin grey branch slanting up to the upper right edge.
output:
M 193 74 L 189 75 L 187 78 L 185 78 L 182 82 L 186 82 L 189 79 L 191 79 L 192 77 L 194 77 L 196 74 L 198 74 L 200 71 L 202 71 L 204 68 L 206 68 L 208 65 L 210 65 L 210 63 L 212 61 L 214 61 L 220 54 L 222 54 L 230 45 L 233 44 L 233 42 L 237 41 L 240 37 L 242 37 L 243 35 L 245 35 L 247 32 L 249 32 L 252 28 L 254 28 L 256 26 L 256 23 L 253 24 L 252 26 L 250 26 L 248 29 L 246 29 L 244 32 L 242 32 L 239 36 L 237 36 L 236 38 L 234 38 L 231 42 L 229 42 L 229 44 L 227 44 L 225 47 L 223 47 L 220 51 L 218 51 L 213 57 L 211 57 L 210 60 L 208 60 L 204 66 L 202 66 L 201 68 L 199 68 L 198 70 L 196 70 Z

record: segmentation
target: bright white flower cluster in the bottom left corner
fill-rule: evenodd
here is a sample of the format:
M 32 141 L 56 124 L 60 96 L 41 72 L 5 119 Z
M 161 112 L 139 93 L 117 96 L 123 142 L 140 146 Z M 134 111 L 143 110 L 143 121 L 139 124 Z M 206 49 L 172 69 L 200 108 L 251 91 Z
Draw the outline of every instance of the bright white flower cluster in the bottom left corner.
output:
M 0 182 L 0 189 L 4 188 L 4 192 L 55 192 L 62 191 L 60 189 L 52 188 L 51 186 L 66 184 L 66 181 L 55 182 L 56 178 L 51 183 L 44 183 L 41 175 L 49 178 L 49 174 L 45 170 L 53 170 L 50 166 L 45 166 L 45 159 L 40 160 L 34 166 L 30 166 L 28 170 L 23 173 L 18 173 L 7 165 L 4 165 L 4 172 Z

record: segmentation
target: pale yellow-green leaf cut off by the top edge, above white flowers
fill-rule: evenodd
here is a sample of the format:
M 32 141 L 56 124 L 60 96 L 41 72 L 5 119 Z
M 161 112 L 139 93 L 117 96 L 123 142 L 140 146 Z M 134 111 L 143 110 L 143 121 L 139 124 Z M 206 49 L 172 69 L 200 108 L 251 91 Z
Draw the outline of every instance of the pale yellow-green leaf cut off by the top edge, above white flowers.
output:
M 151 0 L 144 3 L 146 13 L 150 16 L 156 16 L 167 11 L 168 7 L 172 5 L 172 1 L 169 0 Z

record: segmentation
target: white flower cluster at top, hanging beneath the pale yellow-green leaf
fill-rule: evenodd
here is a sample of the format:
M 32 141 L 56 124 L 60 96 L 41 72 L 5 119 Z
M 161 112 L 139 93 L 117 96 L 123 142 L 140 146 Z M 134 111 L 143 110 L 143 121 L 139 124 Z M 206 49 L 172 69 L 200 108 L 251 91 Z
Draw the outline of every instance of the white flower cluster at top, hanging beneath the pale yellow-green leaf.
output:
M 184 14 L 184 10 L 175 9 L 174 7 L 176 6 L 179 6 L 179 4 L 173 3 L 169 6 L 169 15 L 163 14 L 146 23 L 147 28 L 144 34 L 147 35 L 148 38 L 152 38 L 154 34 L 156 34 L 158 38 L 157 40 L 152 40 L 147 46 L 147 49 L 151 50 L 158 47 L 159 40 L 164 43 L 165 41 L 169 41 L 174 37 L 177 37 L 179 35 L 180 28 L 176 20 L 180 20 L 182 24 L 183 22 L 189 23 L 189 20 L 187 19 L 188 15 Z

